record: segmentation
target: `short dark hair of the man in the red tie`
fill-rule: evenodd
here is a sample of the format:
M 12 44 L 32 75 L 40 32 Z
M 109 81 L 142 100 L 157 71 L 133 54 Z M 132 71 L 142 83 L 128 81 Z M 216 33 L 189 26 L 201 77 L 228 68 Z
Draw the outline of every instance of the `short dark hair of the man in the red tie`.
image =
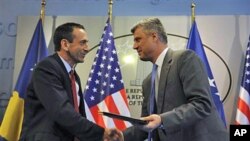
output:
M 74 28 L 85 30 L 84 26 L 78 23 L 65 23 L 56 28 L 53 36 L 55 51 L 60 51 L 62 39 L 67 39 L 70 43 L 73 42 L 74 37 L 72 35 L 72 32 Z

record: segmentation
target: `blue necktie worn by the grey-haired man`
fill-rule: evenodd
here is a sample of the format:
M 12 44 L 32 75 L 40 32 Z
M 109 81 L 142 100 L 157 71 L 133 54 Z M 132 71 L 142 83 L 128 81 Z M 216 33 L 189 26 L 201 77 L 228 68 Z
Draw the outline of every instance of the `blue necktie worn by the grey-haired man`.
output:
M 151 93 L 150 93 L 150 107 L 149 107 L 149 115 L 154 113 L 154 106 L 155 106 L 155 78 L 157 74 L 157 65 L 153 65 L 153 70 L 151 73 Z M 148 141 L 152 139 L 152 132 L 148 132 Z

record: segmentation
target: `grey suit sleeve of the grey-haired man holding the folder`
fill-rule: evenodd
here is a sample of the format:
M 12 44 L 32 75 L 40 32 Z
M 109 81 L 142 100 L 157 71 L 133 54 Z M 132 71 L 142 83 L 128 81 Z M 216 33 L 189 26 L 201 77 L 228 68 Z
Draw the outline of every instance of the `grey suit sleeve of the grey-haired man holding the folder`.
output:
M 208 77 L 199 57 L 192 51 L 185 51 L 174 61 L 176 66 L 173 68 L 176 69 L 173 71 L 177 71 L 179 79 L 174 81 L 180 81 L 180 85 L 166 93 L 173 95 L 173 103 L 182 103 L 160 115 L 166 131 L 192 125 L 210 115 L 212 108 Z M 176 96 L 177 93 L 180 94 Z

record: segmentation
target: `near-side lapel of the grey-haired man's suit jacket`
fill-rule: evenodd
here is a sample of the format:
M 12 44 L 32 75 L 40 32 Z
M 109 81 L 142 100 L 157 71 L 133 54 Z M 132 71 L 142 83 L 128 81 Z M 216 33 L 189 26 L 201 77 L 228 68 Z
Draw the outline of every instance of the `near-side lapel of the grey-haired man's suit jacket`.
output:
M 172 64 L 172 54 L 173 54 L 173 50 L 168 49 L 168 52 L 166 53 L 163 64 L 162 64 L 159 86 L 158 86 L 157 113 L 162 112 L 162 108 L 165 102 L 165 98 L 164 98 L 166 95 L 165 87 L 167 86 L 167 78 L 168 78 L 169 70 Z

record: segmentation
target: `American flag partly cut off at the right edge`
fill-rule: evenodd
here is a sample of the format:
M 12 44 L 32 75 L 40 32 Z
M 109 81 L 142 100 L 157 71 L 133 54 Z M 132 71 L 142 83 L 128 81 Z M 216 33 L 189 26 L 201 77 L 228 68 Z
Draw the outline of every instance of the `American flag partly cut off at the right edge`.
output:
M 246 50 L 245 66 L 243 71 L 240 94 L 238 98 L 236 124 L 250 124 L 250 36 Z

